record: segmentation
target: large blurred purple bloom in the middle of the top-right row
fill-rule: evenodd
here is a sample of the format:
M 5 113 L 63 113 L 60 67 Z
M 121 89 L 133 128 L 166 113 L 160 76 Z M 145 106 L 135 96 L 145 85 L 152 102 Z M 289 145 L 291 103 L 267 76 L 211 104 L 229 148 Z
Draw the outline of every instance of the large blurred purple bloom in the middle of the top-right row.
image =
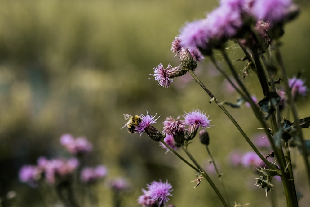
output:
M 237 34 L 243 26 L 240 10 L 223 4 L 213 10 L 207 16 L 209 25 L 209 38 L 211 40 L 223 40 Z

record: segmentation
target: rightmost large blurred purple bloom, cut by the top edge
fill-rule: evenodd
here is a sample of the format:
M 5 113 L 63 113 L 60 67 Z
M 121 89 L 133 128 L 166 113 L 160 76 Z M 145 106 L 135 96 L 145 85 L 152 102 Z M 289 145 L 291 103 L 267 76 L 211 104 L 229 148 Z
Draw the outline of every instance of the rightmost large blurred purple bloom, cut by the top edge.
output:
M 258 20 L 269 22 L 272 26 L 287 18 L 292 5 L 291 0 L 259 0 L 254 2 L 251 9 Z

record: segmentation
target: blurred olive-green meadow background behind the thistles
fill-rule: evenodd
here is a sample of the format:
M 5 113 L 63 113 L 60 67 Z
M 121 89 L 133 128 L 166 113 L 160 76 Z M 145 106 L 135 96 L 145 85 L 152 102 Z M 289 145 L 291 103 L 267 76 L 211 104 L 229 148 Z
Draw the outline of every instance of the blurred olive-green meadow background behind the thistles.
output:
M 301 14 L 286 25 L 282 52 L 288 74 L 298 71 L 305 79 L 310 52 L 310 8 L 300 1 Z M 170 88 L 150 80 L 153 67 L 162 63 L 178 65 L 170 45 L 186 21 L 205 17 L 217 1 L 0 1 L 0 196 L 5 206 L 7 193 L 16 193 L 15 206 L 43 206 L 38 189 L 18 181 L 23 164 L 36 164 L 39 156 L 66 155 L 60 146 L 63 133 L 86 136 L 94 145 L 89 165 L 103 164 L 109 178 L 125 177 L 131 191 L 124 193 L 122 206 L 139 206 L 141 188 L 153 180 L 173 185 L 172 204 L 219 206 L 219 200 L 205 180 L 193 189 L 195 172 L 145 134 L 130 135 L 120 129 L 122 114 L 160 115 L 155 127 L 161 130 L 167 116 L 182 115 L 193 108 L 207 112 L 214 125 L 210 150 L 224 173 L 223 182 L 230 202 L 250 206 L 271 206 L 272 196 L 279 206 L 284 196 L 275 183 L 272 196 L 255 187 L 250 169 L 232 168 L 231 151 L 250 151 L 228 118 L 188 76 L 175 78 Z M 234 45 L 227 49 L 232 60 L 241 57 Z M 220 55 L 216 55 L 221 61 Z M 223 63 L 224 64 L 224 63 Z M 235 63 L 242 70 L 244 63 Z M 220 101 L 236 101 L 228 93 L 223 77 L 214 72 L 208 60 L 198 64 L 197 74 Z M 259 82 L 249 74 L 246 85 L 259 98 Z M 308 83 L 308 86 L 310 84 Z M 298 100 L 300 117 L 309 116 L 309 98 Z M 229 109 L 249 136 L 260 132 L 250 109 Z M 286 111 L 283 117 L 291 118 Z M 305 130 L 309 137 L 309 130 Z M 189 150 L 201 163 L 209 156 L 198 139 Z M 268 153 L 268 152 L 266 152 Z M 181 153 L 183 155 L 183 153 Z M 307 206 L 309 188 L 299 153 L 293 150 L 297 189 Z M 216 175 L 212 175 L 218 183 Z M 112 206 L 111 193 L 104 181 L 97 185 L 100 206 Z M 219 187 L 220 188 L 220 187 Z M 221 188 L 220 188 L 221 189 Z M 221 189 L 222 190 L 222 189 Z M 269 194 L 271 195 L 271 194 Z

